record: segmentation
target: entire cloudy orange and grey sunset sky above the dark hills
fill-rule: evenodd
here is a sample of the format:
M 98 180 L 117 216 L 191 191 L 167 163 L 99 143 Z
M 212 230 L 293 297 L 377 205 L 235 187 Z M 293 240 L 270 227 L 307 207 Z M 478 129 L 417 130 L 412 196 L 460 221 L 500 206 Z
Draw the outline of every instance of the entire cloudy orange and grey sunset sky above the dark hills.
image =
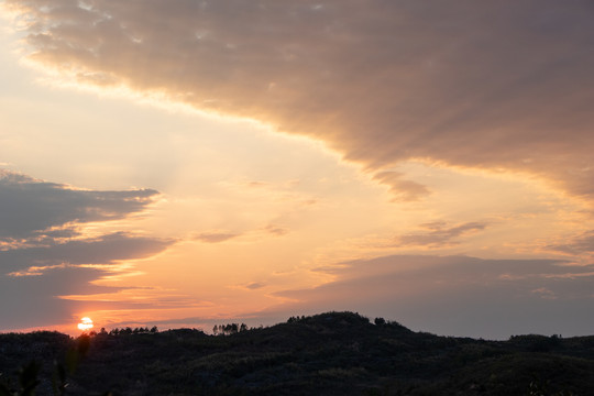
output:
M 594 332 L 588 0 L 0 0 L 0 331 Z

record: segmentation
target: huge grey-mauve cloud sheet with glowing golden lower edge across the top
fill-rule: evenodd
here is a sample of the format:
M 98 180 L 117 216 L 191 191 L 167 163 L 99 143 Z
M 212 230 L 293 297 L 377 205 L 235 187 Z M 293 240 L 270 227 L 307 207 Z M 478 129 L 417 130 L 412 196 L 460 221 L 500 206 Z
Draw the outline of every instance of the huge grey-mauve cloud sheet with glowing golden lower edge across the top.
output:
M 587 1 L 4 3 L 34 62 L 322 140 L 380 179 L 415 158 L 594 194 Z

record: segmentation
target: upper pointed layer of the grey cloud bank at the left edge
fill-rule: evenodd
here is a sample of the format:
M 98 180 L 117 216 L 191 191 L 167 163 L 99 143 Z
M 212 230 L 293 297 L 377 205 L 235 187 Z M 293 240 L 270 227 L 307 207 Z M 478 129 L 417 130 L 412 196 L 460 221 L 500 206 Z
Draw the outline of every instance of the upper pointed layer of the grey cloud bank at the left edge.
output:
M 75 229 L 59 228 L 125 218 L 145 209 L 157 194 L 81 190 L 0 169 L 0 241 L 73 237 Z

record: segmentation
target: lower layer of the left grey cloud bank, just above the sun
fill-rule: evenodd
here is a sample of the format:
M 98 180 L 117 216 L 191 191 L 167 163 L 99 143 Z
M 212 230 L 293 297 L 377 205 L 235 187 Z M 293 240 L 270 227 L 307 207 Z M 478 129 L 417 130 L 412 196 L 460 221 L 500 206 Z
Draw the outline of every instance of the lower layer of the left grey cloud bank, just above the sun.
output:
M 150 304 L 59 297 L 117 293 L 122 288 L 98 286 L 94 280 L 124 274 L 117 264 L 152 256 L 173 242 L 114 233 L 0 251 L 0 289 L 9 297 L 0 299 L 0 331 L 68 323 L 81 310 L 151 308 Z

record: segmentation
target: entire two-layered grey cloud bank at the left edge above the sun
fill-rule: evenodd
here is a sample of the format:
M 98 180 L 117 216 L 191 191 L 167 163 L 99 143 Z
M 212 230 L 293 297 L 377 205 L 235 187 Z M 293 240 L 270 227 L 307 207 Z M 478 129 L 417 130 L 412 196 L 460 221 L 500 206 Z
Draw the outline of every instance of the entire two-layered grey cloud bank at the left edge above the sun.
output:
M 127 232 L 86 235 L 82 224 L 142 212 L 158 193 L 94 191 L 0 170 L 0 330 L 68 322 L 81 309 L 141 309 L 141 304 L 73 301 L 113 294 L 94 282 L 132 271 L 130 261 L 163 252 L 174 240 Z

